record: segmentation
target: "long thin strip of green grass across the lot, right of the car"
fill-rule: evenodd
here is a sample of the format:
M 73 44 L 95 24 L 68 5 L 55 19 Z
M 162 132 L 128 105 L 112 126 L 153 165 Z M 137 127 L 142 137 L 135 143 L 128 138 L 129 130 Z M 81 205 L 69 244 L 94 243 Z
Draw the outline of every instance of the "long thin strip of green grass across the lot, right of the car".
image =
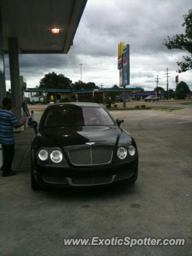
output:
M 135 107 L 126 107 L 126 108 L 123 108 L 123 107 L 117 107 L 117 108 L 108 108 L 108 110 L 149 110 L 149 109 L 153 109 L 153 110 L 180 110 L 180 109 L 183 109 L 181 107 L 171 107 L 171 106 L 146 106 L 145 108 L 135 108 Z

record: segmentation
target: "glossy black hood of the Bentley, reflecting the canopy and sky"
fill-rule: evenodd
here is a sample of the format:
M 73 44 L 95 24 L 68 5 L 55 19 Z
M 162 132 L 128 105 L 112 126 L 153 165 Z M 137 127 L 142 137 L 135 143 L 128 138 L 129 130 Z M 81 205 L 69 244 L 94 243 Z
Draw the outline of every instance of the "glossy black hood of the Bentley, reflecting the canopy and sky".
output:
M 95 146 L 115 146 L 121 130 L 118 126 L 71 126 L 42 129 L 39 133 L 42 143 L 49 140 L 58 146 L 84 145 L 89 142 L 94 142 Z

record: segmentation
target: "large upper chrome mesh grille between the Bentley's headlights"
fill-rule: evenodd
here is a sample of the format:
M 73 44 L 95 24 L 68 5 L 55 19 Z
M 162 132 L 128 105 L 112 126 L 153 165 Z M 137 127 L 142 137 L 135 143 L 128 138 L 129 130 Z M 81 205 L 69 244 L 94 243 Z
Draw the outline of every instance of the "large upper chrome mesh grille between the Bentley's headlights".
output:
M 109 164 L 113 156 L 111 148 L 84 148 L 69 150 L 69 159 L 73 165 Z

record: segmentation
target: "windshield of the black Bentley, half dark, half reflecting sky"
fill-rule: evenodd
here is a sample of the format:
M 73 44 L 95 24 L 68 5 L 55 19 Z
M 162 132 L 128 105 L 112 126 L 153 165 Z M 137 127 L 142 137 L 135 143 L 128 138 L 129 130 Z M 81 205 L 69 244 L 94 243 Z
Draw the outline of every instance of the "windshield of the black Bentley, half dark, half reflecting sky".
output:
M 115 125 L 107 111 L 101 107 L 66 106 L 47 112 L 44 127 Z

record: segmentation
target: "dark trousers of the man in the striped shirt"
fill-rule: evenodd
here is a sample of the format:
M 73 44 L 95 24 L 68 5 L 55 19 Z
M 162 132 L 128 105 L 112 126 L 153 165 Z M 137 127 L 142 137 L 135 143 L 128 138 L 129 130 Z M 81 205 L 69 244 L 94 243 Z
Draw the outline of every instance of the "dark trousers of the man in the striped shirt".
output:
M 1 167 L 1 170 L 3 171 L 3 173 L 10 173 L 11 165 L 14 157 L 14 144 L 12 145 L 2 144 L 2 148 L 3 148 L 3 165 Z

